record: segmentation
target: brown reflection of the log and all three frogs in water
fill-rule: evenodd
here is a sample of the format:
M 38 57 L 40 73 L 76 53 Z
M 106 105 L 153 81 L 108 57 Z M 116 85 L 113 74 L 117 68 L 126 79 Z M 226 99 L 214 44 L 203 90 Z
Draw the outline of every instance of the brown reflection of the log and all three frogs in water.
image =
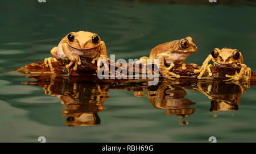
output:
M 240 82 L 225 83 L 213 80 L 188 79 L 170 81 L 163 79 L 156 86 L 148 86 L 147 81 L 88 82 L 82 77 L 40 77 L 30 76 L 36 81 L 23 82 L 40 86 L 45 94 L 56 96 L 67 109 L 62 110 L 68 126 L 93 126 L 100 124 L 97 113 L 105 110 L 104 101 L 110 96 L 109 89 L 134 91 L 136 97 L 147 97 L 156 109 L 166 110 L 167 115 L 179 119 L 195 114 L 195 102 L 185 98 L 185 89 L 200 91 L 211 101 L 210 111 L 236 111 L 240 97 L 246 88 Z M 146 93 L 147 94 L 144 94 Z M 216 117 L 216 115 L 214 115 Z M 180 120 L 179 124 L 189 124 Z

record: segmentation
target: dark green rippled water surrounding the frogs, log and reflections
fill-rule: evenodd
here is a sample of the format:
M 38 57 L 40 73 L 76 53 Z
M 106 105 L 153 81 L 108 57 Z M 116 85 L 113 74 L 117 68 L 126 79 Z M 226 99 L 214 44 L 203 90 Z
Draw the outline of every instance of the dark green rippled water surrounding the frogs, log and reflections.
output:
M 185 89 L 196 112 L 184 119 L 164 114 L 133 91 L 110 89 L 106 109 L 97 114 L 100 124 L 71 127 L 59 98 L 9 72 L 51 56 L 63 36 L 80 30 L 100 35 L 115 59 L 148 56 L 160 43 L 192 36 L 199 50 L 187 63 L 200 65 L 216 47 L 237 48 L 256 71 L 255 2 L 46 1 L 0 2 L 0 141 L 38 142 L 39 136 L 47 142 L 208 142 L 209 136 L 218 142 L 256 141 L 255 86 L 241 95 L 238 110 L 214 113 L 211 99 Z

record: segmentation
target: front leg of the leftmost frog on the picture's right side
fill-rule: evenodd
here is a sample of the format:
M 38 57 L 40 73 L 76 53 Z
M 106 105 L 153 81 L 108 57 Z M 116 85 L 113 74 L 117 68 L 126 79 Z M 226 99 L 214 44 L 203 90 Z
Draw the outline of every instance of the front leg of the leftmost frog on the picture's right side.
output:
M 106 54 L 106 45 L 105 45 L 104 41 L 101 41 L 100 56 L 95 57 L 92 60 L 92 64 L 94 64 L 96 60 L 97 60 L 97 70 L 96 70 L 96 72 L 98 72 L 98 70 L 100 70 L 101 60 L 109 60 L 109 58 L 108 58 L 108 56 Z M 109 66 L 106 63 L 103 63 L 103 64 L 105 66 L 105 70 L 108 71 L 109 70 Z

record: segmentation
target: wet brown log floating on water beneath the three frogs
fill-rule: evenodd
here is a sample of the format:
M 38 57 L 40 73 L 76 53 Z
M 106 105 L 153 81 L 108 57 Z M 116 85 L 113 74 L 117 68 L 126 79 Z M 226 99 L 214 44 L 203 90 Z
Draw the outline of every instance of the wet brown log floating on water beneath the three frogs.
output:
M 109 68 L 111 65 L 110 61 L 109 62 Z M 128 81 L 129 79 L 122 79 L 118 80 L 117 78 L 115 79 L 104 79 L 100 80 L 97 78 L 97 62 L 95 64 L 92 64 L 92 59 L 84 58 L 81 57 L 81 65 L 79 65 L 77 71 L 73 70 L 73 66 L 69 69 L 65 68 L 65 65 L 67 65 L 69 61 L 66 60 L 58 60 L 57 62 L 52 61 L 52 66 L 54 68 L 54 72 L 50 72 L 49 68 L 46 68 L 44 65 L 43 61 L 39 61 L 37 63 L 32 63 L 28 64 L 26 66 L 23 66 L 22 68 L 19 68 L 17 72 L 24 73 L 25 76 L 30 76 L 30 78 L 37 78 L 36 76 L 40 77 L 61 77 L 61 76 L 72 76 L 72 77 L 83 77 L 82 80 L 86 81 L 94 81 L 94 82 L 124 82 Z M 126 69 L 127 72 L 129 72 L 129 67 L 128 66 L 118 66 L 120 64 L 114 63 L 114 68 L 117 70 L 118 68 L 123 68 Z M 129 64 L 132 67 L 133 71 L 135 70 L 134 65 L 135 64 Z M 142 68 L 147 68 L 148 65 L 139 65 L 139 72 L 142 74 Z M 154 66 L 152 66 L 154 68 Z M 175 67 L 171 70 L 172 72 L 176 74 L 180 74 L 181 78 L 180 80 L 197 80 L 197 75 L 194 73 L 195 69 L 200 69 L 200 66 L 195 66 L 191 64 L 187 64 L 187 69 L 182 70 L 181 65 L 175 65 Z M 203 75 L 202 80 L 207 79 L 207 80 L 226 80 L 228 78 L 225 77 L 225 74 L 230 74 L 233 75 L 236 70 L 234 69 L 224 69 L 224 68 L 217 68 L 212 66 L 212 76 L 208 76 L 208 72 L 205 72 Z M 154 73 L 154 71 L 152 71 Z M 109 70 L 110 74 L 110 70 Z M 128 73 L 127 73 L 128 74 Z M 31 77 L 35 76 L 35 77 Z M 161 76 L 161 75 L 160 75 Z M 81 78 L 77 78 L 77 80 L 81 80 Z M 147 80 L 147 79 L 146 79 Z M 132 82 L 139 82 L 142 80 L 129 80 Z M 255 85 L 256 83 L 256 73 L 251 72 L 251 80 L 250 80 L 250 85 Z

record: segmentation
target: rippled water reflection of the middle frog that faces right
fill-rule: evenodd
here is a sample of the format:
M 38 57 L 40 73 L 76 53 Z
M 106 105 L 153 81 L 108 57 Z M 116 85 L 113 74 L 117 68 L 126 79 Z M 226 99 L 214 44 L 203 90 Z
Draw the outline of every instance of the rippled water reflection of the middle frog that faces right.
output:
M 137 97 L 147 97 L 148 100 L 156 109 L 167 110 L 167 115 L 176 115 L 180 119 L 196 112 L 196 109 L 188 108 L 191 105 L 195 105 L 194 102 L 187 98 L 184 98 L 186 91 L 179 82 L 169 83 L 164 80 L 157 89 L 148 90 L 147 95 L 143 94 L 143 91 L 135 91 L 134 95 Z M 189 122 L 180 121 L 179 124 L 189 124 Z

